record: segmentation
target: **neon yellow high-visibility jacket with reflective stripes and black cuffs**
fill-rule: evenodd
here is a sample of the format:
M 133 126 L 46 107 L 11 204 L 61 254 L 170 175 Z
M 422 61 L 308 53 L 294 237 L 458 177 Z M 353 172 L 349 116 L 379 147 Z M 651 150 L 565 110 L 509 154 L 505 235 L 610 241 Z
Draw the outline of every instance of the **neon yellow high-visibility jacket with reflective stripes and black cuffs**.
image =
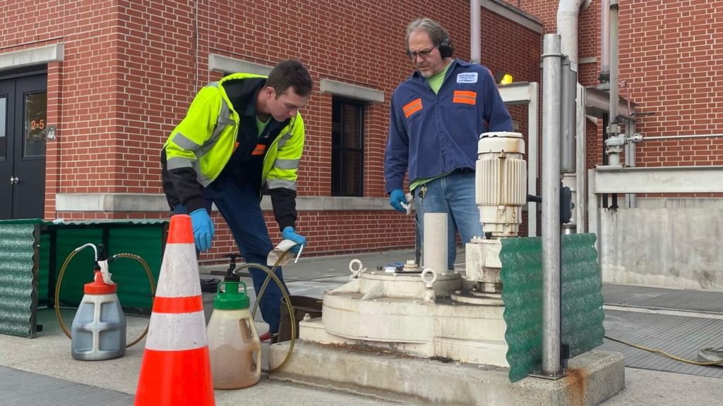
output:
M 198 92 L 187 115 L 163 145 L 163 191 L 171 208 L 179 203 L 189 212 L 205 207 L 202 189 L 218 178 L 237 147 L 247 147 L 237 144 L 244 139 L 238 134 L 243 112 L 237 110 L 255 103 L 265 79 L 257 74 L 236 73 Z M 227 90 L 233 92 L 234 100 Z M 260 180 L 262 188 L 268 188 L 272 195 L 276 220 L 282 229 L 293 226 L 296 220 L 296 171 L 304 150 L 301 114 L 283 124 L 265 150 Z M 281 192 L 276 194 L 278 199 L 274 191 Z

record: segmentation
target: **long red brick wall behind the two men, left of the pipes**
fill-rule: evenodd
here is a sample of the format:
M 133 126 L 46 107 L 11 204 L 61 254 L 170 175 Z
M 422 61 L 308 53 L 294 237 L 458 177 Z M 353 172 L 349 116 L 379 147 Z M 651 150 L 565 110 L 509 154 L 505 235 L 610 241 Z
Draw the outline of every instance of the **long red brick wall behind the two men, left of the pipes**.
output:
M 384 197 L 382 157 L 391 92 L 411 73 L 406 24 L 432 17 L 445 25 L 457 55 L 469 60 L 469 2 L 444 1 L 45 1 L 0 7 L 0 51 L 64 43 L 48 67 L 50 124 L 46 217 L 70 220 L 158 218 L 166 213 L 56 213 L 56 193 L 161 193 L 159 150 L 197 89 L 218 79 L 208 54 L 273 65 L 299 59 L 315 81 L 333 79 L 385 93 L 365 122 L 364 196 Z M 482 63 L 515 80 L 539 81 L 539 35 L 482 10 Z M 330 195 L 331 96 L 312 93 L 302 112 L 307 145 L 299 194 Z M 526 112 L 513 111 L 526 125 Z M 274 241 L 278 227 L 267 220 Z M 235 250 L 215 215 L 213 254 Z M 308 253 L 411 246 L 410 217 L 389 212 L 300 212 Z

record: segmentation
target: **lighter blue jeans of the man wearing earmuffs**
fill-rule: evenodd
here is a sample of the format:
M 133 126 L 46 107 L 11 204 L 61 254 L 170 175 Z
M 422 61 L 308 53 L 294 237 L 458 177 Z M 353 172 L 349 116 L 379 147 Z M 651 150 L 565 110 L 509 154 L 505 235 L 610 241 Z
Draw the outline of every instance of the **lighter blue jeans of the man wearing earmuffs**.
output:
M 427 186 L 424 197 L 419 196 Z M 419 216 L 419 237 L 424 244 L 424 213 L 447 213 L 447 267 L 454 269 L 457 256 L 456 232 L 462 243 L 469 243 L 472 237 L 482 237 L 482 223 L 479 223 L 479 209 L 474 203 L 474 171 L 455 170 L 447 176 L 417 186 L 414 189 L 416 212 Z M 423 245 L 422 245 L 423 246 Z

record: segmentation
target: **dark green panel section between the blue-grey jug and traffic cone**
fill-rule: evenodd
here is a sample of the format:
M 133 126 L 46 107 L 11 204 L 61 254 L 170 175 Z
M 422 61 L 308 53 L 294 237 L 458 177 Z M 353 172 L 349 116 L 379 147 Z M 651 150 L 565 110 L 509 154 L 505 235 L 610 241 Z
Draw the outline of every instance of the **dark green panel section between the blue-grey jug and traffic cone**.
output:
M 135 254 L 147 262 L 158 282 L 163 259 L 163 230 L 159 227 L 111 228 L 109 254 Z M 135 259 L 119 258 L 109 264 L 113 280 L 118 284 L 121 306 L 132 308 L 134 313 L 150 314 L 153 297 L 150 293 L 148 275 L 142 264 Z

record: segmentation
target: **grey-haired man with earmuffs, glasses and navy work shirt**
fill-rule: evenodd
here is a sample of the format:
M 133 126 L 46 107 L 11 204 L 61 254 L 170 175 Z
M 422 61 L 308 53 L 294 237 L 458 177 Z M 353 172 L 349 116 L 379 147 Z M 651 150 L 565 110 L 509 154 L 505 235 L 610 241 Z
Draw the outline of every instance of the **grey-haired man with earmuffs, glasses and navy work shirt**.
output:
M 512 120 L 489 69 L 454 59 L 449 35 L 439 23 L 427 18 L 411 22 L 406 43 L 416 71 L 392 95 L 386 191 L 392 207 L 405 212 L 408 171 L 422 238 L 425 212 L 448 214 L 447 266 L 454 269 L 455 232 L 463 243 L 482 236 L 474 202 L 479 135 L 512 131 Z

